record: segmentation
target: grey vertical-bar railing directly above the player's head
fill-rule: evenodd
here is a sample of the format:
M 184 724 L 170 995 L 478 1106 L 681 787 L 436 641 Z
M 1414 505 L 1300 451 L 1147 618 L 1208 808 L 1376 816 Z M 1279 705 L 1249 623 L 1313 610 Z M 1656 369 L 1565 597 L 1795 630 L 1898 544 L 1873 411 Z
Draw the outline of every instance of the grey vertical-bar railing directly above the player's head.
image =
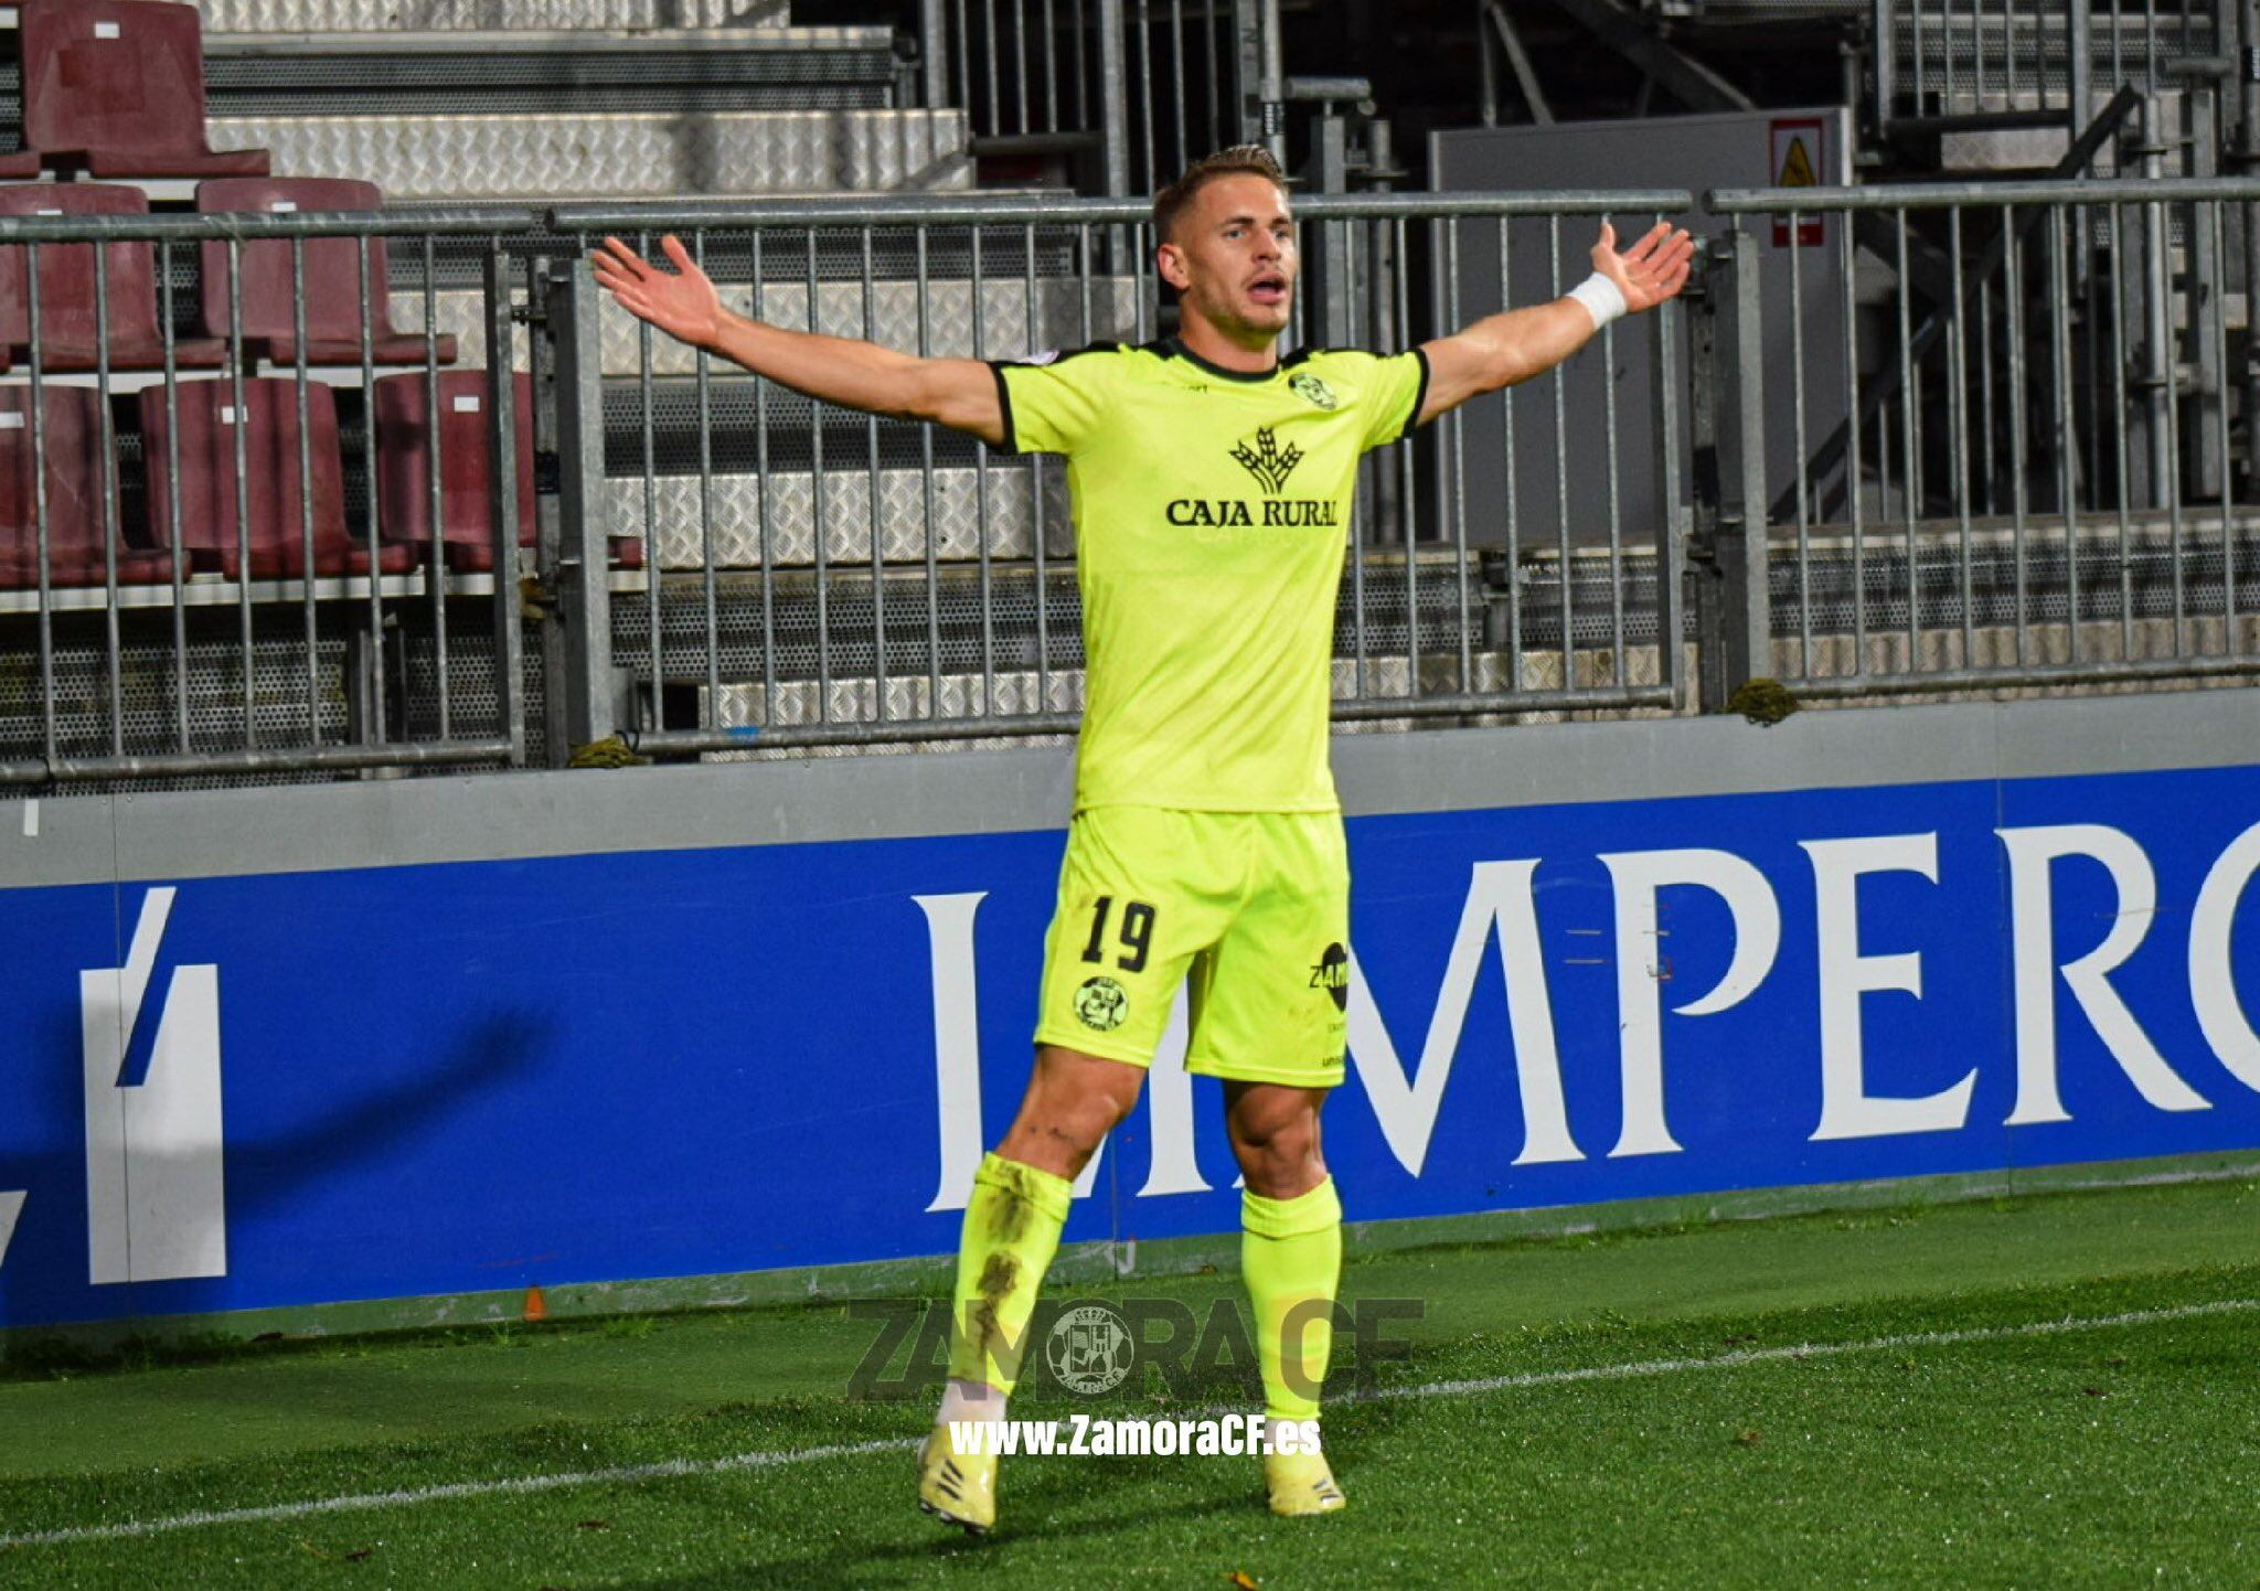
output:
M 920 32 L 927 104 L 976 156 L 1064 156 L 1085 192 L 1281 131 L 1279 0 L 922 0 Z

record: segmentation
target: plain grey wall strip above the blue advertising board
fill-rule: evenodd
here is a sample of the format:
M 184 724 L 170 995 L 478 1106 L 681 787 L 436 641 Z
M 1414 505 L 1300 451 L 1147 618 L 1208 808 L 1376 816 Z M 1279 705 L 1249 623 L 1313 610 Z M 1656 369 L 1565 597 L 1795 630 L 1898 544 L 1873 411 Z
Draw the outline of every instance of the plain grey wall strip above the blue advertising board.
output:
M 2246 764 L 2260 694 L 1347 734 L 1349 814 Z M 0 888 L 1064 827 L 1067 748 L 0 800 Z

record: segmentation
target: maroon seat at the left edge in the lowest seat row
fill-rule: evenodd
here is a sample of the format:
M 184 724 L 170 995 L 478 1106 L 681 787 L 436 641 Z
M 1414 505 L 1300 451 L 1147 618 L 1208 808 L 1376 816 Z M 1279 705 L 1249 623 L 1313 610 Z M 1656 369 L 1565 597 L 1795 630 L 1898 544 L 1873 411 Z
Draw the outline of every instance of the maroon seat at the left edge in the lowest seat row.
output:
M 47 457 L 47 583 L 102 585 L 102 398 L 86 386 L 41 391 Z M 38 585 L 38 504 L 32 486 L 32 389 L 0 386 L 0 585 Z M 118 581 L 172 579 L 160 551 L 118 547 Z

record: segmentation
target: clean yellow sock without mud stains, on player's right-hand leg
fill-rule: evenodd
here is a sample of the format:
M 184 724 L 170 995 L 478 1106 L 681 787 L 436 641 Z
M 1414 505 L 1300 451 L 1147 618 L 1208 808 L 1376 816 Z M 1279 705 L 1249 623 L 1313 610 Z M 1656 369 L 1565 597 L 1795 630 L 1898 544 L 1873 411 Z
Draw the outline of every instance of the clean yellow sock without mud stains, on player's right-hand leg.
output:
M 1333 1286 L 1342 1275 L 1342 1200 L 1333 1177 L 1295 1198 L 1241 1196 L 1241 1275 L 1257 1311 L 1263 1412 L 1315 1419 L 1333 1354 Z

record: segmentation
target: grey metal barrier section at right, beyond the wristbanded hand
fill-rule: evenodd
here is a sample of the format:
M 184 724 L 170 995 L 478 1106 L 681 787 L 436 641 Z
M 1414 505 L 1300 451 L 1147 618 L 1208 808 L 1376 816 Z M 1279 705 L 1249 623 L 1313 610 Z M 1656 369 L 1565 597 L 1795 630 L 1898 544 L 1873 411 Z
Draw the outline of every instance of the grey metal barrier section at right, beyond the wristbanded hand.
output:
M 2228 362 L 2260 183 L 1709 203 L 1736 217 L 1697 391 L 1731 676 L 1851 696 L 2260 669 L 2235 420 L 2260 405 Z

